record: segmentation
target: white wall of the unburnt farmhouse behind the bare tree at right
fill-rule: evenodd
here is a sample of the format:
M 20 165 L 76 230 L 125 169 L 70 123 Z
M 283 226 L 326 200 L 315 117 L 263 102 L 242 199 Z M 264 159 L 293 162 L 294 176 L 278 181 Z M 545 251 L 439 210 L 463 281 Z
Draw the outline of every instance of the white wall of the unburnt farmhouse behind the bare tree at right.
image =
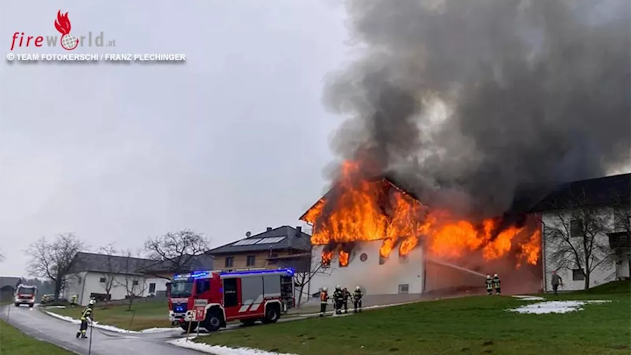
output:
M 613 229 L 613 209 L 608 207 L 603 207 L 601 213 L 608 216 L 606 217 L 609 221 L 607 224 L 607 228 L 611 231 L 615 231 Z M 560 291 L 576 291 L 584 289 L 585 282 L 584 280 L 572 280 L 572 268 L 577 268 L 576 265 L 567 265 L 567 267 L 563 267 L 559 260 L 555 259 L 554 253 L 555 251 L 560 250 L 564 246 L 567 248 L 567 242 L 562 242 L 558 240 L 558 238 L 550 238 L 550 235 L 546 232 L 546 228 L 558 228 L 562 232 L 565 232 L 563 229 L 562 220 L 569 226 L 569 221 L 571 219 L 571 214 L 569 211 L 553 211 L 553 212 L 545 212 L 541 215 L 542 221 L 542 231 L 543 231 L 543 248 L 544 248 L 544 280 L 545 280 L 545 291 L 551 291 L 552 286 L 550 284 L 552 271 L 559 268 L 557 270 L 557 274 L 563 279 L 563 286 L 560 287 Z M 576 248 L 580 248 L 579 243 L 582 243 L 581 238 L 570 238 L 570 242 Z M 596 236 L 596 242 L 598 245 L 606 248 L 606 253 L 611 253 L 609 238 L 606 234 L 599 234 Z M 599 251 L 593 252 L 595 256 L 602 258 L 605 253 L 599 253 Z M 606 284 L 607 282 L 611 282 L 616 280 L 618 274 L 622 271 L 624 272 L 623 265 L 616 265 L 617 260 L 628 260 L 626 253 L 622 253 L 621 255 L 615 256 L 611 258 L 608 262 L 603 262 L 601 265 L 596 267 L 593 272 L 590 274 L 589 287 L 598 286 L 601 284 Z M 622 261 L 622 260 L 621 260 Z M 622 261 L 622 263 L 628 262 Z M 584 261 L 581 261 L 582 267 L 584 267 Z M 623 269 L 623 270 L 621 270 Z M 616 270 L 618 270 L 618 274 L 616 274 Z M 628 272 L 627 272 L 628 273 Z

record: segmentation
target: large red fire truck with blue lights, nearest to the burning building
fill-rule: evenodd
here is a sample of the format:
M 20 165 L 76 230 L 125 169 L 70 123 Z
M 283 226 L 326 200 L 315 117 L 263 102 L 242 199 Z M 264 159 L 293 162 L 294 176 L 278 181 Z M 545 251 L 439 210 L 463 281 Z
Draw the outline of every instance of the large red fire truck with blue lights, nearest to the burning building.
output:
M 169 291 L 169 320 L 184 330 L 203 327 L 209 332 L 233 320 L 274 323 L 295 304 L 294 272 L 285 268 L 175 275 Z

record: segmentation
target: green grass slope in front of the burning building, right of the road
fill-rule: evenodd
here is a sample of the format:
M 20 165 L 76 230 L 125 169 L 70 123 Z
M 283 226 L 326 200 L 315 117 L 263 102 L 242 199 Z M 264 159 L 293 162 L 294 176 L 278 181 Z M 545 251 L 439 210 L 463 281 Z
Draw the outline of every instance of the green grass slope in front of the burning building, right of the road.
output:
M 565 314 L 505 311 L 536 301 L 509 296 L 445 299 L 245 328 L 196 339 L 215 345 L 320 355 L 341 354 L 629 354 L 629 282 L 546 300 L 610 299 Z

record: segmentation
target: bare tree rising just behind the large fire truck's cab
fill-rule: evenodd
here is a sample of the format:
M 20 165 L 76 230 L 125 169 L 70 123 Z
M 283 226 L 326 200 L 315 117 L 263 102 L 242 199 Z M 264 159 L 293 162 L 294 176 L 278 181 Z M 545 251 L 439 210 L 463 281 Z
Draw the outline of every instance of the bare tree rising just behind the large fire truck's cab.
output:
M 163 262 L 164 271 L 178 273 L 189 271 L 186 267 L 191 260 L 208 251 L 208 241 L 203 235 L 185 229 L 149 238 L 144 243 L 144 249 L 151 259 Z

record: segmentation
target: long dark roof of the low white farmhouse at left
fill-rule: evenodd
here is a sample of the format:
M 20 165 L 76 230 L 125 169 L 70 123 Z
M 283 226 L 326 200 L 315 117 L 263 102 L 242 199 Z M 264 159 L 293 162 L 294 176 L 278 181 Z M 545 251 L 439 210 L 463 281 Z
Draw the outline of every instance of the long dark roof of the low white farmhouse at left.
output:
M 193 256 L 186 265 L 192 270 L 212 270 L 213 257 L 209 255 Z M 83 271 L 102 272 L 107 274 L 151 274 L 170 270 L 168 261 L 156 261 L 144 258 L 127 258 L 127 256 L 104 255 L 80 251 L 74 256 L 71 274 Z

